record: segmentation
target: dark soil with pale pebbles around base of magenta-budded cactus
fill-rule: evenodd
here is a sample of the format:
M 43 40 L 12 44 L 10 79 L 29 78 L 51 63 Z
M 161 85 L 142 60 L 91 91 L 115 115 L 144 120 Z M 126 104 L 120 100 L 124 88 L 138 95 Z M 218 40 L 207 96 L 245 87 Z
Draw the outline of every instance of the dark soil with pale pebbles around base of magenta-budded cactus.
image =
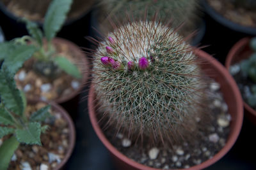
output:
M 205 160 L 211 159 L 218 153 L 228 138 L 230 132 L 231 117 L 228 107 L 220 92 L 220 85 L 213 82 L 210 86 L 214 96 L 211 96 L 212 119 L 209 124 L 198 132 L 195 142 L 184 141 L 180 145 L 166 148 L 164 146 L 150 146 L 148 141 L 134 143 L 127 139 L 124 134 L 115 132 L 113 129 L 106 129 L 104 134 L 111 144 L 130 159 L 145 166 L 159 169 L 181 169 L 201 164 Z M 200 120 L 198 120 L 200 124 Z

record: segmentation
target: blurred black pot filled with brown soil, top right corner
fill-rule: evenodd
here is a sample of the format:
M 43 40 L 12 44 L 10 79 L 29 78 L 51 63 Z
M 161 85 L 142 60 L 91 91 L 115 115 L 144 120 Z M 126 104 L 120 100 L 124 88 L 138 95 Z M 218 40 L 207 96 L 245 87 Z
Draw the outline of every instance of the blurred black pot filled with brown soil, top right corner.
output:
M 202 0 L 205 12 L 228 29 L 244 34 L 256 35 L 253 0 Z

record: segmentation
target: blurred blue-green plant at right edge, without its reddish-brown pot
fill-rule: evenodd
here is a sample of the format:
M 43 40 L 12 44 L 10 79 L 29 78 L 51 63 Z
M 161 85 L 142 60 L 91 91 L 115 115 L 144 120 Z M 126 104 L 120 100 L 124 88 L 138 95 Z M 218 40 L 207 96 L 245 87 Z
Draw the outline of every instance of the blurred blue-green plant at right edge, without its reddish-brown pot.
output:
M 240 67 L 243 76 L 250 78 L 250 80 L 256 83 L 256 37 L 251 39 L 250 47 L 253 53 L 248 59 L 242 60 Z M 251 91 L 252 96 L 248 97 L 248 104 L 252 107 L 256 107 L 256 85 L 253 85 Z

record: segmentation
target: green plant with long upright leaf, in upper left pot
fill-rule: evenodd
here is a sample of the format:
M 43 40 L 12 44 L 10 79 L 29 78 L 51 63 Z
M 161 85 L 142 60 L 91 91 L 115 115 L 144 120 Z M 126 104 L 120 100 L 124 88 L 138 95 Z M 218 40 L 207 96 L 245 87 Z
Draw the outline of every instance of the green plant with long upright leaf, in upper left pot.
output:
M 66 57 L 58 55 L 52 39 L 60 31 L 72 0 L 53 0 L 45 14 L 44 32 L 40 30 L 35 22 L 23 19 L 26 22 L 30 36 L 15 38 L 10 42 L 0 45 L 0 60 L 4 59 L 4 65 L 12 66 L 15 61 L 15 66 L 12 66 L 13 72 L 16 72 L 23 62 L 29 59 L 32 55 L 36 59 L 34 69 L 36 72 L 44 76 L 51 76 L 52 72 L 62 69 L 67 74 L 76 78 L 81 78 L 81 73 L 77 66 L 72 64 Z M 40 67 L 42 64 L 50 68 L 50 71 L 45 71 L 45 67 Z M 39 67 L 38 67 L 39 66 Z

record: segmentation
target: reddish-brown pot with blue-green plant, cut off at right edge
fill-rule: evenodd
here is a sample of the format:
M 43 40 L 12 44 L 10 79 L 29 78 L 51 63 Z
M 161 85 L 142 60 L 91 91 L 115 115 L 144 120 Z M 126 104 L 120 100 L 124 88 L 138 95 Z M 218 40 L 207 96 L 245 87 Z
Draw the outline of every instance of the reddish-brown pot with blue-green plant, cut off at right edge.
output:
M 236 80 L 243 97 L 246 116 L 256 122 L 255 52 L 256 38 L 240 39 L 228 52 L 225 66 Z

